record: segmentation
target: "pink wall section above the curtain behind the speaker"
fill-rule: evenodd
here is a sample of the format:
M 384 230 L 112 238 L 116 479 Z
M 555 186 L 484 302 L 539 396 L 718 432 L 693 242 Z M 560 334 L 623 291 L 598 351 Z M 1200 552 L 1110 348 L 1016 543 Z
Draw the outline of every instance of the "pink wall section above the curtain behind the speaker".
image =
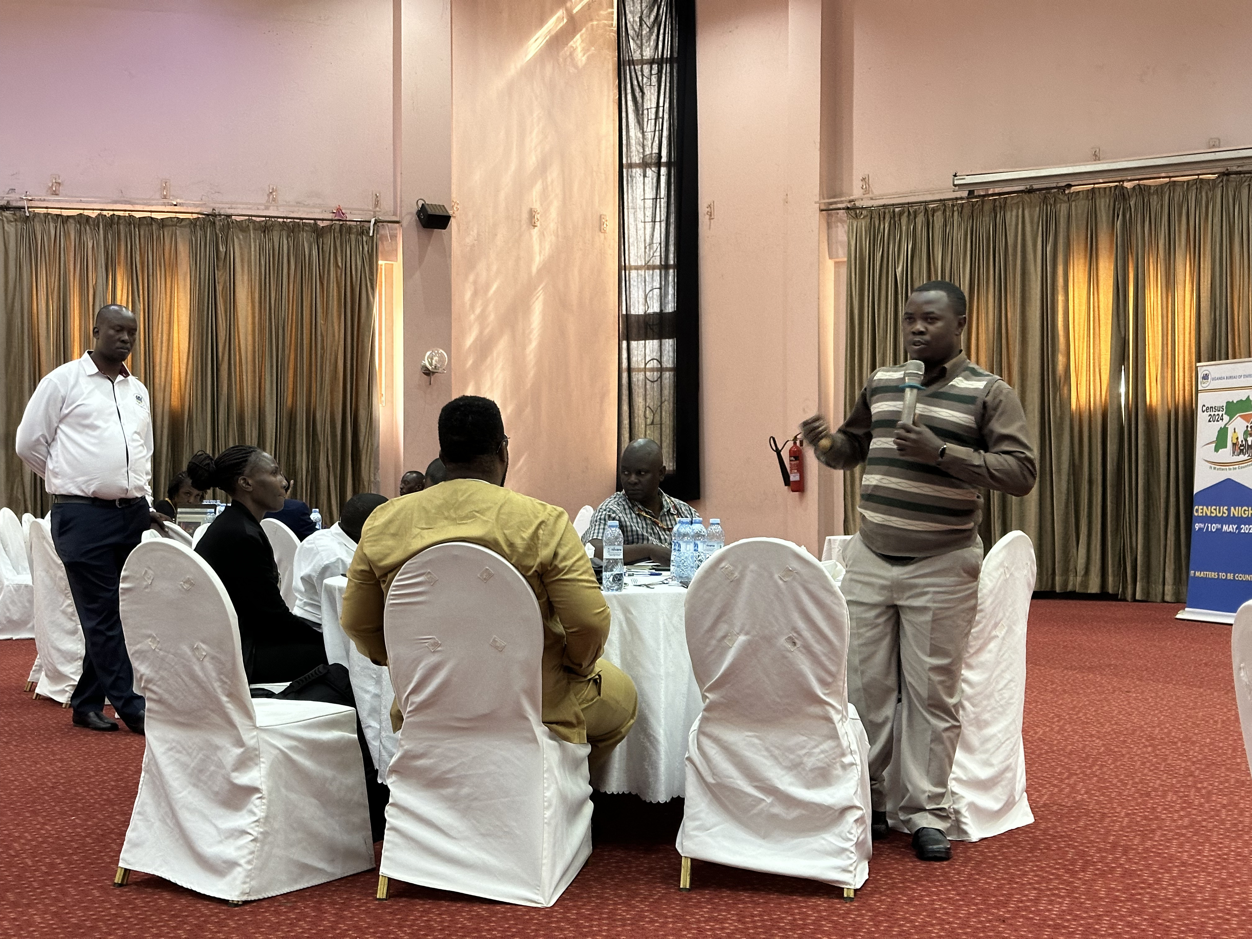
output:
M 843 0 L 828 195 L 1252 145 L 1247 0 Z M 851 58 L 851 63 L 839 61 Z M 851 88 L 848 88 L 848 83 Z

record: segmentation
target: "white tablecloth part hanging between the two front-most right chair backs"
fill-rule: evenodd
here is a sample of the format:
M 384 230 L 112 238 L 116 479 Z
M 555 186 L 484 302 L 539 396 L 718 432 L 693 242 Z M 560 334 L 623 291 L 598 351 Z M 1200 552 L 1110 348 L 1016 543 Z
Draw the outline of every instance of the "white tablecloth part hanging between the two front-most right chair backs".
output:
M 684 627 L 686 597 L 677 585 L 605 593 L 612 613 L 605 656 L 634 679 L 639 717 L 592 780 L 602 793 L 635 793 L 649 803 L 685 793 L 687 731 L 700 714 Z

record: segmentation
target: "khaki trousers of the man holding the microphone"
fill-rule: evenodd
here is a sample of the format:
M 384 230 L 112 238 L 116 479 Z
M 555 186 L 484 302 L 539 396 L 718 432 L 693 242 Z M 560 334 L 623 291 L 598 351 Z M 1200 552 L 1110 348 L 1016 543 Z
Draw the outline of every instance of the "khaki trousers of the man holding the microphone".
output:
M 978 611 L 983 545 L 891 565 L 860 536 L 845 552 L 851 635 L 848 700 L 869 736 L 874 809 L 886 809 L 895 702 L 900 699 L 900 821 L 909 831 L 952 825 L 952 761 L 960 740 L 960 669 Z M 904 686 L 900 687 L 900 677 Z

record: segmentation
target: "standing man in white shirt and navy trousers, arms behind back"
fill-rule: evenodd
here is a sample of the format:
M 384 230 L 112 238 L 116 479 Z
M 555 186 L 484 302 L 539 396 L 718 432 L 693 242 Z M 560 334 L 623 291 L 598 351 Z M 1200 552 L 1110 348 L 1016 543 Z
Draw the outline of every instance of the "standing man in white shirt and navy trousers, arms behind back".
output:
M 148 389 L 126 371 L 138 323 L 125 307 L 95 314 L 93 348 L 53 369 L 35 388 L 18 427 L 18 456 L 44 477 L 53 497 L 53 543 L 65 563 L 86 655 L 70 702 L 74 724 L 144 732 L 144 699 L 135 694 L 118 613 L 121 565 L 151 511 L 153 423 Z

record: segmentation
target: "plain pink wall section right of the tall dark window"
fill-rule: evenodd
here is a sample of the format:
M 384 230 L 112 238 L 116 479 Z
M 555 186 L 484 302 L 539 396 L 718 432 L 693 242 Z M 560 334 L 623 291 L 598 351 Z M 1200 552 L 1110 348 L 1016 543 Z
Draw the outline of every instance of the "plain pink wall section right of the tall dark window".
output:
M 819 475 L 786 491 L 770 452 L 819 404 L 821 5 L 696 6 L 705 517 L 730 538 L 820 552 Z M 828 483 L 829 485 L 829 483 Z

